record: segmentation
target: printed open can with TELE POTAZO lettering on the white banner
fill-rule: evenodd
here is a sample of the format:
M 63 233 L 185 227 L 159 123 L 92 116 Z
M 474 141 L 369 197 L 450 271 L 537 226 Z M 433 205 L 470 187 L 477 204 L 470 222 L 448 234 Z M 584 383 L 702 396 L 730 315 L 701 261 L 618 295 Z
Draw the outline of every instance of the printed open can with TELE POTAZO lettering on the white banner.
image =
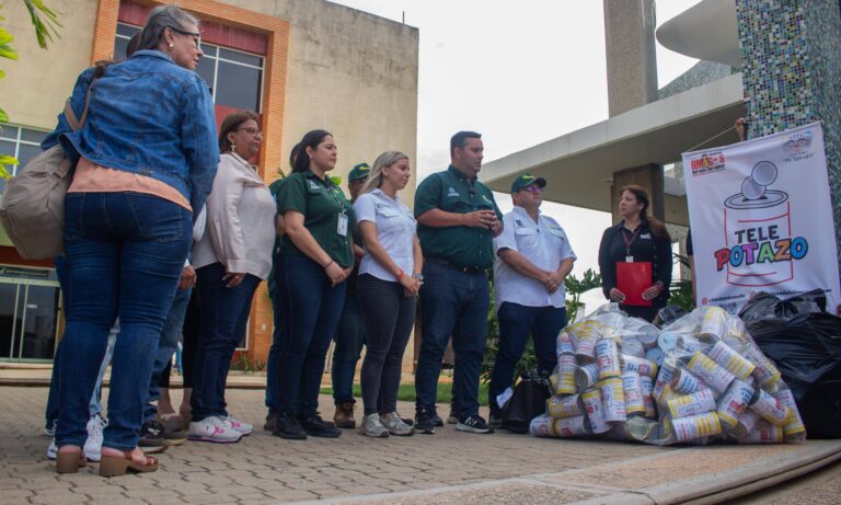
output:
M 727 269 L 727 284 L 767 287 L 792 280 L 794 262 L 809 251 L 806 239 L 793 237 L 788 194 L 769 190 L 776 176 L 774 163 L 760 161 L 741 192 L 724 200 L 726 248 L 714 255 L 716 269 Z

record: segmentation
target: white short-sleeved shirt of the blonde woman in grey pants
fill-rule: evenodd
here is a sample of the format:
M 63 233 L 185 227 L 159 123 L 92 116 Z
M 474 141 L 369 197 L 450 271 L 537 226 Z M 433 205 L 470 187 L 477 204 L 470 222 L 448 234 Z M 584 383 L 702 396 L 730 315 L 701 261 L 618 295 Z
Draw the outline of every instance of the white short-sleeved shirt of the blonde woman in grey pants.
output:
M 377 226 L 377 240 L 391 260 L 412 274 L 416 221 L 412 211 L 400 197 L 392 198 L 379 188 L 360 195 L 354 204 L 357 222 L 371 221 Z M 370 274 L 379 279 L 396 282 L 394 275 L 380 265 L 366 250 L 359 263 L 359 274 Z

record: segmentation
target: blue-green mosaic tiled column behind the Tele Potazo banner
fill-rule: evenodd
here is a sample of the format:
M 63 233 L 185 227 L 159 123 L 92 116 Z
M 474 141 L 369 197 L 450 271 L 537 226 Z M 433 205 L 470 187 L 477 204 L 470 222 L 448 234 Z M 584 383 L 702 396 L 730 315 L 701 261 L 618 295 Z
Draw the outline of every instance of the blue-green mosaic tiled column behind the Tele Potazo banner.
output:
M 841 10 L 830 0 L 736 0 L 749 136 L 823 122 L 841 251 Z M 839 259 L 841 264 L 841 259 Z

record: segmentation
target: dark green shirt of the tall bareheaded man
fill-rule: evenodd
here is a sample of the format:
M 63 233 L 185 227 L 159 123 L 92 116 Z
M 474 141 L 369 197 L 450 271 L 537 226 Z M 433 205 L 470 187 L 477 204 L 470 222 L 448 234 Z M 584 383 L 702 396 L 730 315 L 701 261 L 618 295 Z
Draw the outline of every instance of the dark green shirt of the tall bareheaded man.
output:
M 417 186 L 415 217 L 434 208 L 454 214 L 493 210 L 499 220 L 503 219 L 491 190 L 475 179 L 469 181 L 452 165 L 429 175 Z M 494 264 L 494 233 L 489 229 L 433 228 L 418 222 L 417 237 L 426 257 L 472 268 L 491 268 Z

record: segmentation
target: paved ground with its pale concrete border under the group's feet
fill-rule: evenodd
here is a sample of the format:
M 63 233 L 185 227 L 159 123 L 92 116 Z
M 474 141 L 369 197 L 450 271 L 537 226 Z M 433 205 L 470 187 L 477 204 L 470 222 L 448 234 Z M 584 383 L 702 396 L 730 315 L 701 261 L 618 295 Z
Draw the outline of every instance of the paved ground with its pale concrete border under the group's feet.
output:
M 263 391 L 229 390 L 231 411 L 258 426 L 240 444 L 171 447 L 149 474 L 103 479 L 90 464 L 58 475 L 45 457 L 46 397 L 46 388 L 0 387 L 0 505 L 673 503 L 776 479 L 763 484 L 771 485 L 775 475 L 841 457 L 841 440 L 658 448 L 473 435 L 451 425 L 406 438 L 344 431 L 334 440 L 290 441 L 261 429 Z M 331 398 L 321 398 L 321 409 L 333 414 Z M 400 409 L 413 413 L 410 404 Z

